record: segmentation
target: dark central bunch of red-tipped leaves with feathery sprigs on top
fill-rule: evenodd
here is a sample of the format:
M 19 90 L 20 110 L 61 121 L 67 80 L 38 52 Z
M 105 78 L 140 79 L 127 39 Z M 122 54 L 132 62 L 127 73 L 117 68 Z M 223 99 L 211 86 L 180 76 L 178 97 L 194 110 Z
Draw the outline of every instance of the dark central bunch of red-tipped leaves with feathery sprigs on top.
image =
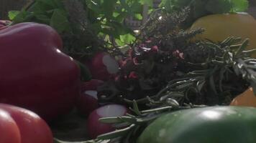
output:
M 170 80 L 182 76 L 183 69 L 186 69 L 182 67 L 186 61 L 182 50 L 186 46 L 196 46 L 188 39 L 202 32 L 201 29 L 179 29 L 179 24 L 187 16 L 186 11 L 184 9 L 180 13 L 167 14 L 158 10 L 151 14 L 140 30 L 137 42 L 131 45 L 120 60 L 119 74 L 114 81 L 107 82 L 99 89 L 99 94 L 104 94 L 104 98 L 99 98 L 102 102 L 118 100 L 116 97 L 119 96 L 127 99 L 152 96 Z M 106 93 L 109 95 L 106 96 Z

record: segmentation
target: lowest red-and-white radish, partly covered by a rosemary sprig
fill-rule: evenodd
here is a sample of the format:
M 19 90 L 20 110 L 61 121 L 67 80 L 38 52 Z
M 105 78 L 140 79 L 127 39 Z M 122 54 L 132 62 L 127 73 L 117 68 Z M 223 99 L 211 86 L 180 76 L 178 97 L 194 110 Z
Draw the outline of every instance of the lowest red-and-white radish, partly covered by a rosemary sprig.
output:
M 100 118 L 124 116 L 127 112 L 127 108 L 119 104 L 109 104 L 94 110 L 89 115 L 87 121 L 89 137 L 95 139 L 100 134 L 114 131 L 114 127 L 111 124 L 99 122 Z

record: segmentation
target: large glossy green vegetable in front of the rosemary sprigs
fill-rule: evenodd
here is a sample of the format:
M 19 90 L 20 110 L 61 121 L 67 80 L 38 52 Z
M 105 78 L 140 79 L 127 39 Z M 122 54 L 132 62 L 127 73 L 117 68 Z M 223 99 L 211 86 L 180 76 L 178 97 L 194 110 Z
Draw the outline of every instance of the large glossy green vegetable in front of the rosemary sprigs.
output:
M 137 143 L 255 143 L 256 108 L 204 107 L 157 118 Z

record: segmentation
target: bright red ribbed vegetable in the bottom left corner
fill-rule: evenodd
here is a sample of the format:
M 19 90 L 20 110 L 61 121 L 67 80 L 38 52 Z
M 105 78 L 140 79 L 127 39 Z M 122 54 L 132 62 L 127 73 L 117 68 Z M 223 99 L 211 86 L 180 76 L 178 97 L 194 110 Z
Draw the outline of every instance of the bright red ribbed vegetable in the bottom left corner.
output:
M 0 104 L 0 143 L 52 143 L 46 122 L 27 109 Z

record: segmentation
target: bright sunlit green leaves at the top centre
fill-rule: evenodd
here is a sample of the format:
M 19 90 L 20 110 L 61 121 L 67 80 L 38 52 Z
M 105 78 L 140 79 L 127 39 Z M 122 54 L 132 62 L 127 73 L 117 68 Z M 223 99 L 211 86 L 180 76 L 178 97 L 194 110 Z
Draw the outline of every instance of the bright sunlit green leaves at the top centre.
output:
M 94 29 L 99 34 L 106 34 L 104 39 L 111 41 L 109 37 L 114 37 L 112 44 L 123 46 L 134 40 L 132 29 L 124 25 L 124 19 L 132 16 L 134 19 L 142 20 L 143 4 L 152 5 L 152 0 L 86 0 L 88 11 L 96 14 L 97 20 L 93 22 Z M 122 37 L 126 36 L 127 39 Z

